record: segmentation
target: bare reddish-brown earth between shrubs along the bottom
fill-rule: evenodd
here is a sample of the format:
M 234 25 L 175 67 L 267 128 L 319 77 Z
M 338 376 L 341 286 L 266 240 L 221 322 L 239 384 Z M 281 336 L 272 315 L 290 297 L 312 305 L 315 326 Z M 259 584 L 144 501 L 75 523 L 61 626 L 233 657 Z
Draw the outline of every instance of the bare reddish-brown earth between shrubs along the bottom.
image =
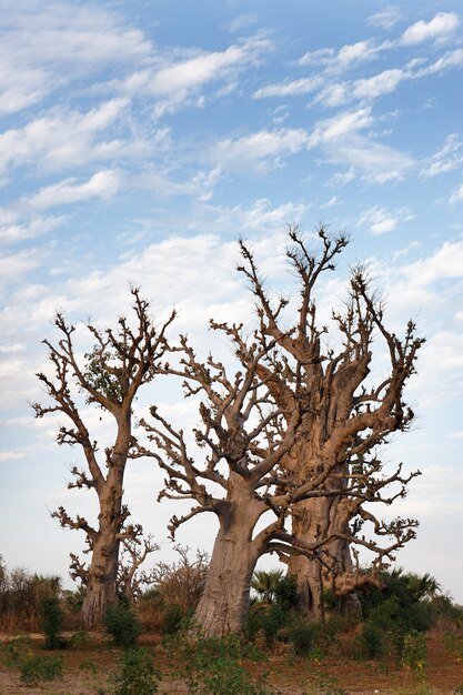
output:
M 34 649 L 41 648 L 40 635 L 32 635 Z M 2 642 L 8 637 L 3 636 Z M 159 693 L 185 695 L 184 683 L 175 675 L 175 659 L 155 635 L 143 635 L 141 646 L 154 654 L 162 672 Z M 119 649 L 109 648 L 101 635 L 94 633 L 79 646 L 68 648 L 63 656 L 63 677 L 43 686 L 24 686 L 18 671 L 0 664 L 0 695 L 99 695 L 108 675 L 114 669 Z M 346 656 L 322 659 L 274 654 L 262 664 L 245 663 L 253 675 L 269 673 L 269 684 L 281 695 L 454 695 L 463 693 L 463 661 L 445 647 L 443 634 L 427 635 L 425 676 L 393 663 L 355 661 Z M 228 695 L 223 693 L 221 695 Z

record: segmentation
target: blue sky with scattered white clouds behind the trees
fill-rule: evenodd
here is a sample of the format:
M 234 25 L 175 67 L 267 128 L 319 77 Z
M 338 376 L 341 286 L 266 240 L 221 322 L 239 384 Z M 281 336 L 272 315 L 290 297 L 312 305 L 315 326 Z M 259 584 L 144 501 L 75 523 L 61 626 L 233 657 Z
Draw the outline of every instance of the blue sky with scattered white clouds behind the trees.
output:
M 49 513 L 66 490 L 43 401 L 52 319 L 110 324 L 137 283 L 207 351 L 207 322 L 249 316 L 236 236 L 284 288 L 284 228 L 352 239 L 324 288 L 369 263 L 400 332 L 427 340 L 413 432 L 385 452 L 423 475 L 396 508 L 421 520 L 399 564 L 463 602 L 463 11 L 456 0 L 0 0 L 0 553 L 67 575 L 82 547 Z M 314 241 L 315 243 L 315 241 Z M 330 284 L 331 283 L 331 284 Z M 291 288 L 289 288 L 291 292 Z M 80 330 L 83 335 L 83 331 Z M 379 345 L 380 348 L 380 345 Z M 194 421 L 164 385 L 145 396 Z M 99 416 L 89 414 L 97 436 Z M 129 471 L 133 516 L 169 554 L 152 464 Z M 177 511 L 177 510 L 175 510 Z M 214 520 L 179 540 L 209 547 Z

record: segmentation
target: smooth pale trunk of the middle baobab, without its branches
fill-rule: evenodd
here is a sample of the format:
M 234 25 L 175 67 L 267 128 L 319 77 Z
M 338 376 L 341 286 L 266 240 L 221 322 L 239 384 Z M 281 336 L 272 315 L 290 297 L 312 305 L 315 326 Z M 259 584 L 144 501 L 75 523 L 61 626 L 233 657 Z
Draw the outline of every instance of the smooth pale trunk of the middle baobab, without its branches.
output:
M 211 564 L 194 614 L 202 636 L 223 637 L 243 632 L 248 620 L 251 577 L 259 558 L 252 532 L 262 512 L 255 503 L 231 506 L 220 516 Z M 251 507 L 251 508 L 250 508 Z

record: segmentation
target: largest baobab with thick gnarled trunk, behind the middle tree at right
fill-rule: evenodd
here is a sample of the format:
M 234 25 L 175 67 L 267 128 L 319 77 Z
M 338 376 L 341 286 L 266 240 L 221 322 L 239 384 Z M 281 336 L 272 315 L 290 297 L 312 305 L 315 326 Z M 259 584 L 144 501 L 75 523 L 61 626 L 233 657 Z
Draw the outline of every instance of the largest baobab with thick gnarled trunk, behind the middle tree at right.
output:
M 309 544 L 318 544 L 324 537 L 334 538 L 320 554 L 323 562 L 312 562 L 304 555 L 281 556 L 296 578 L 301 605 L 319 618 L 323 613 L 324 588 L 345 596 L 355 607 L 355 597 L 351 594 L 355 586 L 378 581 L 378 572 L 359 572 L 358 566 L 354 571 L 350 536 L 360 533 L 365 521 L 373 523 L 378 534 L 383 533 L 383 526 L 365 508 L 364 501 L 381 498 L 379 491 L 373 493 L 371 488 L 371 481 L 374 479 L 376 486 L 382 471 L 378 447 L 393 432 L 405 431 L 412 422 L 413 412 L 403 402 L 403 390 L 415 371 L 416 353 L 423 340 L 415 336 L 412 321 L 403 339 L 387 331 L 383 305 L 370 291 L 365 274 L 359 268 L 352 272 L 343 311 L 332 313 L 330 335 L 338 333 L 340 348 L 330 350 L 323 345 L 328 328 L 318 323 L 314 288 L 322 273 L 334 270 L 334 259 L 348 244 L 348 238 L 344 234 L 330 236 L 321 226 L 321 251 L 312 253 L 298 229 L 290 228 L 289 236 L 286 253 L 301 298 L 290 329 L 282 328 L 281 319 L 286 300 L 272 303 L 244 242 L 240 243 L 243 263 L 239 270 L 245 274 L 254 293 L 261 333 L 278 341 L 282 350 L 284 371 L 275 372 L 265 365 L 259 365 L 258 371 L 261 379 L 266 380 L 288 422 L 300 397 L 292 382 L 300 379 L 303 386 L 306 406 L 282 465 L 301 484 L 323 479 L 320 490 L 342 491 L 340 495 L 308 498 L 292 510 L 292 531 L 299 538 Z M 389 355 L 389 367 L 380 383 L 366 386 L 375 338 L 383 342 L 383 349 L 376 345 L 375 352 Z M 392 475 L 385 472 L 382 475 L 384 485 L 393 480 L 401 482 L 396 495 L 403 495 L 414 474 L 403 477 L 400 466 Z M 350 494 L 353 481 L 362 482 L 363 494 Z M 374 570 L 378 571 L 378 564 Z

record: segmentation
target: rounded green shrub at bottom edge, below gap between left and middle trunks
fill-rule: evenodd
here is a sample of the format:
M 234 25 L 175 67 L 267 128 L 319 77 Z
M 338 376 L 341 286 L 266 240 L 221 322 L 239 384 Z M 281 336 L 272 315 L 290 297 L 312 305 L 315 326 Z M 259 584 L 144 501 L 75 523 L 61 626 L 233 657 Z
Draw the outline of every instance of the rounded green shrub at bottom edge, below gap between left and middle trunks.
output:
M 158 692 L 160 672 L 147 649 L 129 649 L 119 659 L 120 671 L 112 678 L 111 695 L 152 695 Z

